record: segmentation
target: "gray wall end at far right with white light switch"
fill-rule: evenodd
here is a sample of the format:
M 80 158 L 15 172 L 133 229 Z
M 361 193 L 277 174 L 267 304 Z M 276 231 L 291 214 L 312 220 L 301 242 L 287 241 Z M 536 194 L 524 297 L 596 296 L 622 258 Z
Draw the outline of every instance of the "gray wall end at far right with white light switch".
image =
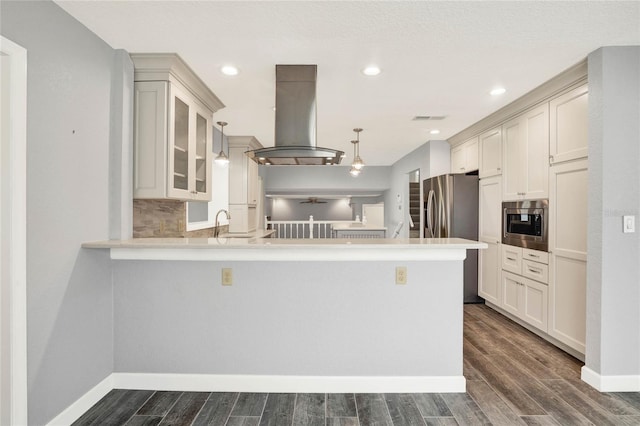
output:
M 589 55 L 586 366 L 640 375 L 640 47 Z

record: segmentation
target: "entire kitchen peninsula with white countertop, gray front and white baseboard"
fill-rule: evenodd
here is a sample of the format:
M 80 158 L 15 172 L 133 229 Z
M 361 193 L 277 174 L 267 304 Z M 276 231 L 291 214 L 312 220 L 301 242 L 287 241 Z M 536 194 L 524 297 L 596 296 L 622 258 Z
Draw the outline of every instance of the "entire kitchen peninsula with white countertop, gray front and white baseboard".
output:
M 114 260 L 121 387 L 465 390 L 462 262 L 484 243 L 153 238 L 83 247 Z

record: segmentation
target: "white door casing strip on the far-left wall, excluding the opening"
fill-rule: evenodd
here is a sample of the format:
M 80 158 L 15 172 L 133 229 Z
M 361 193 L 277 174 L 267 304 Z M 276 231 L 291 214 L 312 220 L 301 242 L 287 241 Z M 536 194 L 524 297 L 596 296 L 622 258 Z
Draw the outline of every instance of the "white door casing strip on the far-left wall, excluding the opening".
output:
M 9 297 L 10 423 L 27 424 L 27 51 L 0 36 L 10 58 L 9 86 Z M 2 142 L 5 143 L 4 141 Z M 3 177 L 4 178 L 4 177 Z M 5 210 L 6 212 L 6 210 Z M 3 233 L 3 238 L 5 235 Z M 4 287 L 4 284 L 3 284 Z

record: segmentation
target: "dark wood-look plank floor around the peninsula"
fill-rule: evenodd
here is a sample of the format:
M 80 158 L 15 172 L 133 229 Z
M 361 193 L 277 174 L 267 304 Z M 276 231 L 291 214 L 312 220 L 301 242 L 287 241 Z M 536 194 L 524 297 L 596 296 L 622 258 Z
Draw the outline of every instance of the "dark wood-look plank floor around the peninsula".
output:
M 116 389 L 75 425 L 640 425 L 640 393 L 599 393 L 582 363 L 484 305 L 465 305 L 457 394 Z

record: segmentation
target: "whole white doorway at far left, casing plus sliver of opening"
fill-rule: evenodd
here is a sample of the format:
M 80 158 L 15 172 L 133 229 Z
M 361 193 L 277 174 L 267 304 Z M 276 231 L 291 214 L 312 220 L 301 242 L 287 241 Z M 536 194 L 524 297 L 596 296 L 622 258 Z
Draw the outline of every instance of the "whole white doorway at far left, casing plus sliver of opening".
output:
M 7 410 L 0 419 L 8 424 L 27 424 L 27 51 L 0 36 L 0 55 L 2 72 L 8 71 L 8 76 L 0 77 L 8 79 L 8 90 L 2 90 L 0 103 L 5 129 L 0 137 L 0 303 L 8 308 L 0 310 L 5 324 L 1 341 L 7 348 L 0 362 L 1 374 L 8 375 L 2 381 L 9 385 L 8 392 L 0 394 L 0 409 Z

